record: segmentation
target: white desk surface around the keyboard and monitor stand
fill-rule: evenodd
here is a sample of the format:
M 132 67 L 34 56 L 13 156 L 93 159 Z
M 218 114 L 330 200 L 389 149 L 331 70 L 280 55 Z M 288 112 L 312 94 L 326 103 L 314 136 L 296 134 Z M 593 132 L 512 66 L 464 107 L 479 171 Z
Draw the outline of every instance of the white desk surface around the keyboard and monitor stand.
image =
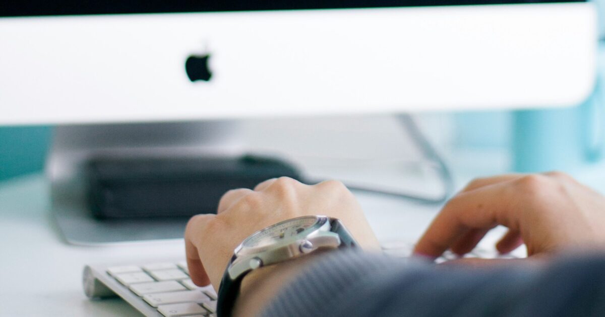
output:
M 416 239 L 437 211 L 397 199 L 358 198 L 383 241 Z M 0 316 L 137 316 L 121 299 L 88 300 L 81 285 L 83 266 L 185 256 L 182 240 L 67 245 L 49 205 L 42 175 L 0 183 Z

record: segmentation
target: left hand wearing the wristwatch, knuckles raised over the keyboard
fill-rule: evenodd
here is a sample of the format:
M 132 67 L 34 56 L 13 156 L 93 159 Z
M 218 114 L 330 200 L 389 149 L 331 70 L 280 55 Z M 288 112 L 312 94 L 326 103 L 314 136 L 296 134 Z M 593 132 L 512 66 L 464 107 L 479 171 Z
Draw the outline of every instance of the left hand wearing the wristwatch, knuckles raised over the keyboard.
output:
M 379 249 L 359 203 L 341 182 L 304 185 L 291 178 L 269 179 L 254 190 L 228 191 L 216 215 L 189 220 L 185 246 L 192 280 L 218 287 L 234 249 L 250 234 L 283 220 L 313 215 L 341 219 L 362 248 Z

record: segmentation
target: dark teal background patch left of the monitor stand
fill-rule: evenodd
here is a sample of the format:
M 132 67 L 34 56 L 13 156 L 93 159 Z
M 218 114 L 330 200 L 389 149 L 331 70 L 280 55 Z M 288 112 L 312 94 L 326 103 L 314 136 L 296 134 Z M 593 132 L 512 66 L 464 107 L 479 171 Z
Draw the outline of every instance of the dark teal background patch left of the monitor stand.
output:
M 0 181 L 41 171 L 52 130 L 49 126 L 0 127 Z

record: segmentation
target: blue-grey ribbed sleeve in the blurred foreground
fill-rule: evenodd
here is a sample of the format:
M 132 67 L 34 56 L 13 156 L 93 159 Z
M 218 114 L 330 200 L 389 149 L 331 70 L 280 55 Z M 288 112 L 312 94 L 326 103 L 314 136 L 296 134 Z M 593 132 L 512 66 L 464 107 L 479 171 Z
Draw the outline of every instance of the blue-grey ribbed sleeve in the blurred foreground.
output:
M 605 316 L 605 255 L 471 269 L 331 252 L 263 316 Z

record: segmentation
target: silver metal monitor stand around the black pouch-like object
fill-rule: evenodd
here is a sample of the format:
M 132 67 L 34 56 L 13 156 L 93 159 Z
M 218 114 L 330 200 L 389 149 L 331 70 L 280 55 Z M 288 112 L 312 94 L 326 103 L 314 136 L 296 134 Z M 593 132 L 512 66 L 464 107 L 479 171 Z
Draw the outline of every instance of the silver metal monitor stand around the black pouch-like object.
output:
M 232 121 L 58 126 L 48 155 L 52 214 L 68 243 L 99 245 L 180 239 L 188 219 L 99 220 L 85 200 L 84 165 L 98 155 L 240 155 Z

